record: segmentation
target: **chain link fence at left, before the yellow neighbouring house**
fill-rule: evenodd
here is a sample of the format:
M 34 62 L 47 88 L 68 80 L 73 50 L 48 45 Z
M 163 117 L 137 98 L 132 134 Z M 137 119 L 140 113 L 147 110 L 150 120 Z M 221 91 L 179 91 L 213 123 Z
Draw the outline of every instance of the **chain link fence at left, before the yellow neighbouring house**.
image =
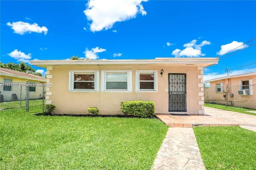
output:
M 20 108 L 44 113 L 44 83 L 0 83 L 0 110 Z

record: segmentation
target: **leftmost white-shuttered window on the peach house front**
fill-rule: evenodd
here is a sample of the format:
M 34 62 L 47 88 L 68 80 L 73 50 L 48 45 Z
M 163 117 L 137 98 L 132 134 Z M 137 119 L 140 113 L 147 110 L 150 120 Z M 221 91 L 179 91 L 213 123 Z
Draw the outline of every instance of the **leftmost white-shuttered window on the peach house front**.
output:
M 99 91 L 98 71 L 70 71 L 68 91 Z

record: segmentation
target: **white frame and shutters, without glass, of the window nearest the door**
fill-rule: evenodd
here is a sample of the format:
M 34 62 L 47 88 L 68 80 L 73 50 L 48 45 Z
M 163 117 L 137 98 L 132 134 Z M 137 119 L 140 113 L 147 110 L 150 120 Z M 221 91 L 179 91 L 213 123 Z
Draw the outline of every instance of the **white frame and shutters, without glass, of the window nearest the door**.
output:
M 140 89 L 140 73 L 153 73 L 154 74 L 154 89 Z M 136 70 L 136 92 L 157 92 L 157 71 L 156 70 Z M 152 81 L 148 81 L 152 82 Z

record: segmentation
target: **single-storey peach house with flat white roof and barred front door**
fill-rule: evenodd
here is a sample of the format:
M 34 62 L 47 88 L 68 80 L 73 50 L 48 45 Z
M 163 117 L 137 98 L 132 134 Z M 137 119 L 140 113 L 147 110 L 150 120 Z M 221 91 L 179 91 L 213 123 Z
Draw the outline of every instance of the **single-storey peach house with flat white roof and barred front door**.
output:
M 156 113 L 204 114 L 203 68 L 218 58 L 32 60 L 47 68 L 46 104 L 54 114 L 122 114 L 120 103 L 154 101 Z

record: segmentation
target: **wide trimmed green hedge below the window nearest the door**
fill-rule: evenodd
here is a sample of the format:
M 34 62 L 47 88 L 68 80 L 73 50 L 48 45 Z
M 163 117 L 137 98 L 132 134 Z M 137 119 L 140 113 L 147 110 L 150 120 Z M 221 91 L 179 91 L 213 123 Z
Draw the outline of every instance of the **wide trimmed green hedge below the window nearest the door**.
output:
M 154 117 L 155 103 L 153 101 L 122 101 L 121 111 L 124 115 L 138 117 Z

